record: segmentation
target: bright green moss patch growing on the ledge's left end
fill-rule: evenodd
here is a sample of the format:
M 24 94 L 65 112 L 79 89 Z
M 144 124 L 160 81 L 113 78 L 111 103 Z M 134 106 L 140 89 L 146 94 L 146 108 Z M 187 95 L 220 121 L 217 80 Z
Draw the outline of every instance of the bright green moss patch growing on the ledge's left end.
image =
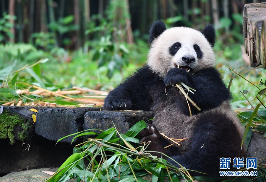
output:
M 10 143 L 15 142 L 14 128 L 22 127 L 22 131 L 18 132 L 18 138 L 24 141 L 27 137 L 27 129 L 30 127 L 29 122 L 25 123 L 25 119 L 18 114 L 10 115 L 7 110 L 0 114 L 0 138 L 9 138 Z

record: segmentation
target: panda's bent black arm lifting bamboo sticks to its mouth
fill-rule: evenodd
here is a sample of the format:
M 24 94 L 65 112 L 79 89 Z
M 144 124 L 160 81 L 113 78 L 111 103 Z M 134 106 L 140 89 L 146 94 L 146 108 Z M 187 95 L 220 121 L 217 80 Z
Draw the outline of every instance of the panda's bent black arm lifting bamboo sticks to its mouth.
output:
M 165 84 L 183 82 L 195 89 L 194 94 L 189 92 L 189 97 L 202 111 L 215 108 L 223 101 L 231 99 L 229 90 L 215 68 L 206 68 L 194 74 L 189 74 L 183 69 L 173 68 L 168 71 L 164 82 Z

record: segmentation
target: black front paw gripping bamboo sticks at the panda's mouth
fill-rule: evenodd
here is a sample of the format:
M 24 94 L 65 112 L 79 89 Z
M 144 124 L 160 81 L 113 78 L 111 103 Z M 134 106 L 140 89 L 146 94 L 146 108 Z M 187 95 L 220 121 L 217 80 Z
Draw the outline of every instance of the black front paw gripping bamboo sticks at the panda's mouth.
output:
M 166 76 L 164 77 L 164 84 L 166 85 L 175 85 L 183 82 L 188 85 L 190 80 L 190 74 L 186 72 L 184 69 L 172 68 L 168 71 Z

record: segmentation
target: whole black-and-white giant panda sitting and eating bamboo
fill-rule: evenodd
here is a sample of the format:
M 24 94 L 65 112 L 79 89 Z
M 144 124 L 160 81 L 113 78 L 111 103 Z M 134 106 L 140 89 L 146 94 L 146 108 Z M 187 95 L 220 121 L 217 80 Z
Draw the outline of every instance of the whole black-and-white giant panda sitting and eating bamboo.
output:
M 151 141 L 150 149 L 171 156 L 187 169 L 217 176 L 220 157 L 233 159 L 246 153 L 241 149 L 243 128 L 231 109 L 230 92 L 214 68 L 214 41 L 211 25 L 199 32 L 185 27 L 166 29 L 162 21 L 155 22 L 150 30 L 147 65 L 111 91 L 104 107 L 153 110 L 153 125 L 142 130 L 141 142 Z M 181 82 L 196 90 L 188 95 L 201 111 L 190 104 L 192 116 L 184 95 L 171 86 Z M 158 131 L 187 139 L 181 146 L 164 149 L 169 143 Z

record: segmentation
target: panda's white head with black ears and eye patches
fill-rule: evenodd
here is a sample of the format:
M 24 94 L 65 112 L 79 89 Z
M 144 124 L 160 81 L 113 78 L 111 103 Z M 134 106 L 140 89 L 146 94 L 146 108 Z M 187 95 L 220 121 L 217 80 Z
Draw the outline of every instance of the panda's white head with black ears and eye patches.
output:
M 161 77 L 175 67 L 190 70 L 189 73 L 214 67 L 214 41 L 212 25 L 207 25 L 202 32 L 187 27 L 166 29 L 158 20 L 150 30 L 148 66 Z

